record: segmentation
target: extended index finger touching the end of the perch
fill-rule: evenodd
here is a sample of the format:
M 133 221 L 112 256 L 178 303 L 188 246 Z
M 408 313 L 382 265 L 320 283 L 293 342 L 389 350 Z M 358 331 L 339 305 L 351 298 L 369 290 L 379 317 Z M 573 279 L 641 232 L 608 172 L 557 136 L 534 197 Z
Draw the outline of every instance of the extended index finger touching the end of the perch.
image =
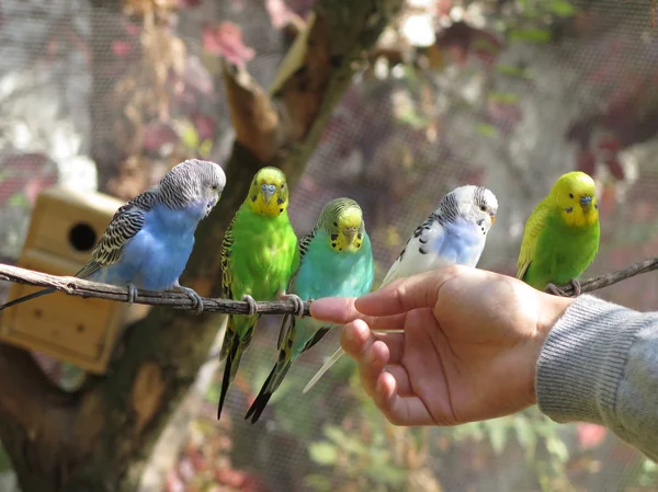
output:
M 405 313 L 389 317 L 364 317 L 354 307 L 353 297 L 325 297 L 310 304 L 310 316 L 336 324 L 345 324 L 356 319 L 364 320 L 373 330 L 401 330 Z

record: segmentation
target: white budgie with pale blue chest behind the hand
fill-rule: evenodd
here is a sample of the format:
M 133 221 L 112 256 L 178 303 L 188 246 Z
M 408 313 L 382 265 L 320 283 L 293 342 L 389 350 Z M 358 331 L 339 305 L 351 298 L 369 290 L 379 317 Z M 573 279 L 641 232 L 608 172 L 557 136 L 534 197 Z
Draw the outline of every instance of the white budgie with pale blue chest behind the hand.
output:
M 498 201 L 483 186 L 466 185 L 446 194 L 439 207 L 413 231 L 384 277 L 390 282 L 452 264 L 475 266 L 496 221 Z M 304 388 L 307 392 L 343 355 L 338 350 Z

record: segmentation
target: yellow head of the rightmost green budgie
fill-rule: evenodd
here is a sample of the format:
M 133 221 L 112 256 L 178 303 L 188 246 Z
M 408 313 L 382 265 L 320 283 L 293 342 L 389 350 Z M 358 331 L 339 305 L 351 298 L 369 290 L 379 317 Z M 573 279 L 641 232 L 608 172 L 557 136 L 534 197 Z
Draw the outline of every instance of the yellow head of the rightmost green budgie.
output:
M 594 180 L 574 171 L 563 174 L 551 194 L 559 207 L 563 219 L 571 227 L 586 227 L 599 220 Z

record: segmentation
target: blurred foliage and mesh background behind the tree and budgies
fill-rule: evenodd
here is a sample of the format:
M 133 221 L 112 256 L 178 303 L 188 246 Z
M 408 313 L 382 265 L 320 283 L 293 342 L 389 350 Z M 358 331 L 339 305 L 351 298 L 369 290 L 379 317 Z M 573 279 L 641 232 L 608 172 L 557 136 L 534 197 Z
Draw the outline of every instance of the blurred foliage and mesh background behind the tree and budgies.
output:
M 0 260 L 18 258 L 34 199 L 47 186 L 127 199 L 185 158 L 223 162 L 234 133 L 220 57 L 269 85 L 311 4 L 0 1 Z M 559 174 L 579 169 L 595 178 L 601 203 L 601 252 L 586 276 L 655 255 L 656 7 L 408 0 L 367 54 L 367 69 L 294 190 L 297 233 L 329 199 L 353 197 L 381 279 L 444 193 L 483 184 L 500 209 L 479 266 L 513 274 L 532 207 Z M 651 310 L 656 291 L 658 276 L 649 274 L 598 295 Z M 604 428 L 558 426 L 535 408 L 454 428 L 394 427 L 365 398 L 347 357 L 302 394 L 337 332 L 298 361 L 260 422 L 248 424 L 242 416 L 274 361 L 279 323 L 261 321 L 219 423 L 222 370 L 211 378 L 177 459 L 145 491 L 657 489 L 656 465 Z M 67 368 L 38 358 L 64 385 Z M 14 490 L 1 451 L 0 473 L 0 490 Z

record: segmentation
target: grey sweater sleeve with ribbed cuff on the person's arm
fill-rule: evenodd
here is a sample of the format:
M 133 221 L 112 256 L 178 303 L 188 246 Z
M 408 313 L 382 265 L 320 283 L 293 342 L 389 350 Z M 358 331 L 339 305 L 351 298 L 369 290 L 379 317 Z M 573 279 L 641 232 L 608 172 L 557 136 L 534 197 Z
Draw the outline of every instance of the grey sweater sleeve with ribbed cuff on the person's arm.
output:
M 544 342 L 535 382 L 554 421 L 604 425 L 658 460 L 658 312 L 580 296 Z

